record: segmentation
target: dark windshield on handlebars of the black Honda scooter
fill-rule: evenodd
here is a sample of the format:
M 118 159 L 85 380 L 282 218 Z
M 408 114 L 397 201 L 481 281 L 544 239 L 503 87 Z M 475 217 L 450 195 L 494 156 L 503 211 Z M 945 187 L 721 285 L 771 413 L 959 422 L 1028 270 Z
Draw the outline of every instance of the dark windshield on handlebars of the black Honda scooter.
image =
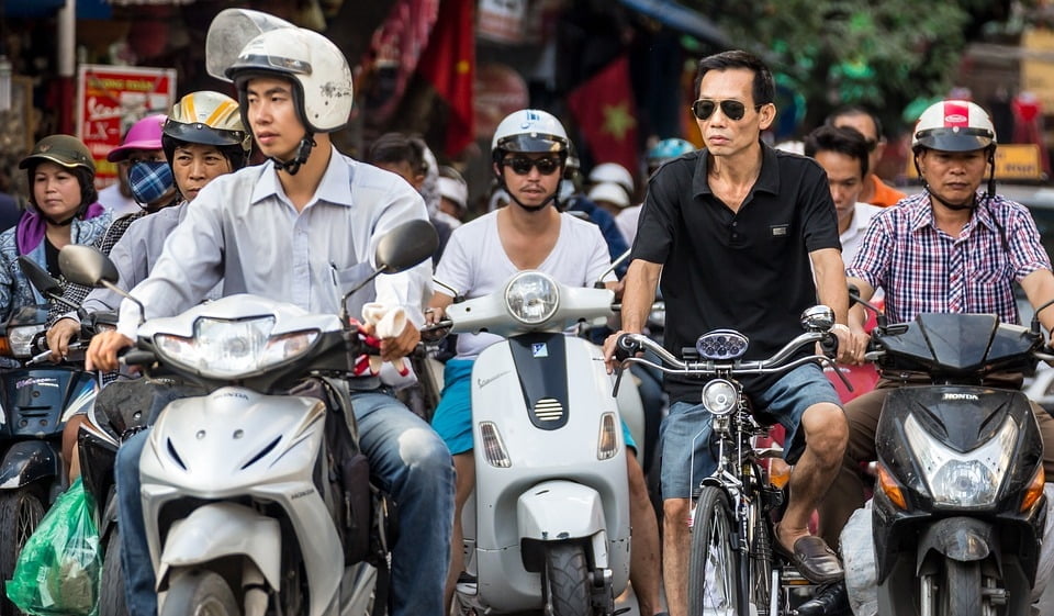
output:
M 881 344 L 887 355 L 913 360 L 926 370 L 978 372 L 1027 363 L 1034 337 L 1024 327 L 1000 324 L 991 314 L 926 313 L 913 323 L 890 327 Z

